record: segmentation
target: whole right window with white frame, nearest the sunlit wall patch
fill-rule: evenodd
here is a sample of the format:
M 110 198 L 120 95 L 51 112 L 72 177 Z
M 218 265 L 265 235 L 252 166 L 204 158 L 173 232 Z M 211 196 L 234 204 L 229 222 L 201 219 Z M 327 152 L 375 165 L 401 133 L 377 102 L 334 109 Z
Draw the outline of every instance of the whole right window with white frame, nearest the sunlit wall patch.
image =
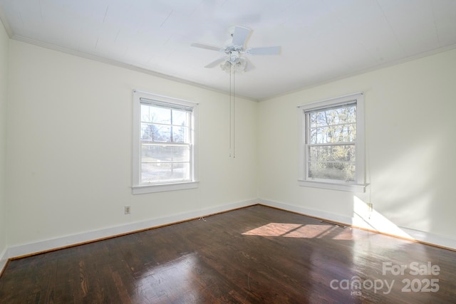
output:
M 363 192 L 363 94 L 300 105 L 301 186 Z

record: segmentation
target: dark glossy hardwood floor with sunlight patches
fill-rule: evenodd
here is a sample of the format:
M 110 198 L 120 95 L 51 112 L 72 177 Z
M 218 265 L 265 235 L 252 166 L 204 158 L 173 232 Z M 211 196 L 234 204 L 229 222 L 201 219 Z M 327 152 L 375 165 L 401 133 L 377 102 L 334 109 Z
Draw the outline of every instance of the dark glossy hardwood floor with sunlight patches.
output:
M 456 303 L 455 251 L 266 206 L 206 220 L 11 261 L 0 303 Z

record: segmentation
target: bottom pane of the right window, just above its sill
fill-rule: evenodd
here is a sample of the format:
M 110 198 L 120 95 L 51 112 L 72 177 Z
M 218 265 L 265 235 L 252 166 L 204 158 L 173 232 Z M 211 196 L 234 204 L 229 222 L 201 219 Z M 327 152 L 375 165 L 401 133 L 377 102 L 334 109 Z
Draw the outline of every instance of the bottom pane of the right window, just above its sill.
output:
M 353 182 L 355 164 L 353 162 L 309 162 L 309 177 Z

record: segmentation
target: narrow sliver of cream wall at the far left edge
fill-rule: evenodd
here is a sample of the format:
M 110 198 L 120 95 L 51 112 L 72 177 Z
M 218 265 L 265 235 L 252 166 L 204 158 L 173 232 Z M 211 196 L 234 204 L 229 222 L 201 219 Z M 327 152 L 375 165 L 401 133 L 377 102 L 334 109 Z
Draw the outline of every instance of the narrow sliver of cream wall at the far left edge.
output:
M 9 37 L 0 21 L 0 271 L 6 250 L 6 110 Z

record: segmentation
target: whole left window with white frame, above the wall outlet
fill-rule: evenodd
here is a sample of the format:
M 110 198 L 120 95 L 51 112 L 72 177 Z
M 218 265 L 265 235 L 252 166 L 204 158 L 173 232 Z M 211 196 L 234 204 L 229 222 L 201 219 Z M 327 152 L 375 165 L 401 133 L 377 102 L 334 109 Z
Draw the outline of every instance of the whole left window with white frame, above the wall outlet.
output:
M 197 187 L 197 104 L 133 93 L 133 194 Z

